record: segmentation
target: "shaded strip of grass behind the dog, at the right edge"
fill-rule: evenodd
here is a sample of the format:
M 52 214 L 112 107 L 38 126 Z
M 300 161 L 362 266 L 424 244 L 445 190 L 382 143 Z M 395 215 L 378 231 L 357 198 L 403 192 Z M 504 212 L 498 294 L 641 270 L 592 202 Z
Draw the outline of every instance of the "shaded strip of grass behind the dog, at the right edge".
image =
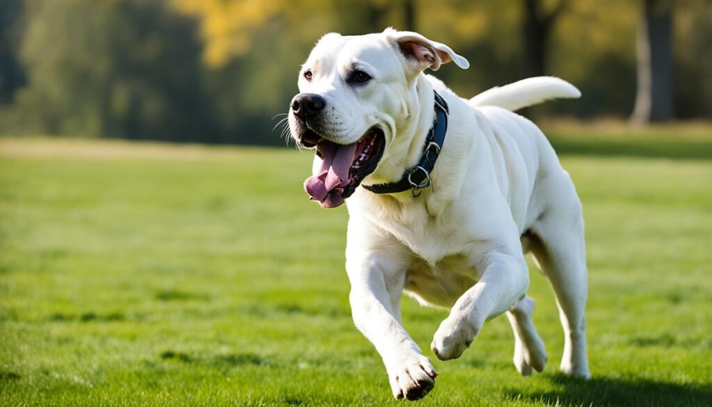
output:
M 559 155 L 712 160 L 712 140 L 549 138 Z

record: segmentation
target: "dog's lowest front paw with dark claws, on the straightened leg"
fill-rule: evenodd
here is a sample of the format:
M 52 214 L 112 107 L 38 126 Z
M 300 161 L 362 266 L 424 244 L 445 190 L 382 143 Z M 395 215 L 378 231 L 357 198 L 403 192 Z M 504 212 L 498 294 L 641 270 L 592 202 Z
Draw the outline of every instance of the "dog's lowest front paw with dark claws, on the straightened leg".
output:
M 428 358 L 421 355 L 413 356 L 389 374 L 393 396 L 419 400 L 433 389 L 436 376 L 438 372 Z

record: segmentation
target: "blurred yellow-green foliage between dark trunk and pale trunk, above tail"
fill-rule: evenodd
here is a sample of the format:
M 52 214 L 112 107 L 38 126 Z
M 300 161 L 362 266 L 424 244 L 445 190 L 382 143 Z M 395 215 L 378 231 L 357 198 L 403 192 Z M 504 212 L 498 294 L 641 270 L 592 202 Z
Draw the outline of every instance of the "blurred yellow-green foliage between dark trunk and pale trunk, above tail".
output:
M 571 1 L 551 34 L 548 74 L 574 83 L 577 101 L 540 107 L 578 118 L 627 116 L 635 96 L 634 1 Z

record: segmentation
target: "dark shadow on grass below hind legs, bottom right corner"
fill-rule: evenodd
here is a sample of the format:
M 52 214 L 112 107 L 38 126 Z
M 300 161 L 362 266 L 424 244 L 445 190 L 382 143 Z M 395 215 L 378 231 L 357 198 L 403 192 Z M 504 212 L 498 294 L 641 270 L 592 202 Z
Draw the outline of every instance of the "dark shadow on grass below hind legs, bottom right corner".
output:
M 552 376 L 556 389 L 538 393 L 511 393 L 550 406 L 712 406 L 712 388 L 647 379 Z

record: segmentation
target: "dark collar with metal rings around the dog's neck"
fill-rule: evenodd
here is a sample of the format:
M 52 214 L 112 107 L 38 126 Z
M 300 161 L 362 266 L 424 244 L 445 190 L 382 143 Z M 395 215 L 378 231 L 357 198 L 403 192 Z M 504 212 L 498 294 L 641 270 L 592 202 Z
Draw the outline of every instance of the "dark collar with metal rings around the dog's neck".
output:
M 377 185 L 363 185 L 367 190 L 376 194 L 392 194 L 395 192 L 413 191 L 413 196 L 417 197 L 420 192 L 430 186 L 430 172 L 435 167 L 438 155 L 445 142 L 447 133 L 447 116 L 450 113 L 445 99 L 436 91 L 435 93 L 435 120 L 425 138 L 423 155 L 420 162 L 412 168 L 407 168 L 403 177 L 397 182 Z

